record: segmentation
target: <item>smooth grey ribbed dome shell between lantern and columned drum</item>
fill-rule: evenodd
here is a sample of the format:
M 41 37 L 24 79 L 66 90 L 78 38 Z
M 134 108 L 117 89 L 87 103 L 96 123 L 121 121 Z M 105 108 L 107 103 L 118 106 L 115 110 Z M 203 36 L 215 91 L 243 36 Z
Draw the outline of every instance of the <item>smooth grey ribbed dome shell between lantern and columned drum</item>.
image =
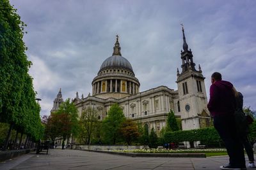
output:
M 104 60 L 104 62 L 102 62 L 100 66 L 100 71 L 102 71 L 103 69 L 117 68 L 117 67 L 132 71 L 132 66 L 130 62 L 124 57 L 122 57 L 121 55 L 112 55 L 111 57 L 108 57 L 108 59 Z

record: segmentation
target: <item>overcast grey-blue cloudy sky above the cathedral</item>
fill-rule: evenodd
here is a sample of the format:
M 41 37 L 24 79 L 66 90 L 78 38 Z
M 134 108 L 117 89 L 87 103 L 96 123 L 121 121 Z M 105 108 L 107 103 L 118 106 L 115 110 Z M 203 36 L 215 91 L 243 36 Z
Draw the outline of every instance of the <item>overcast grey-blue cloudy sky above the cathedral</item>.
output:
M 218 71 L 256 110 L 256 1 L 10 0 L 28 26 L 24 36 L 29 73 L 49 115 L 63 99 L 92 94 L 92 80 L 120 36 L 122 56 L 140 80 L 140 91 L 160 85 L 177 90 L 182 31 L 202 67 L 207 97 Z

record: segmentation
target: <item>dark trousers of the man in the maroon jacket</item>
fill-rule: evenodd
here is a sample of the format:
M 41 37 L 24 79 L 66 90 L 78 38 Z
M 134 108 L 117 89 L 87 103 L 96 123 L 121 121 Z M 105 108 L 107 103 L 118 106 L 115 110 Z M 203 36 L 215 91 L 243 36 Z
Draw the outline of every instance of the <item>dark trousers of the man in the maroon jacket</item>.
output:
M 232 115 L 216 116 L 213 124 L 225 143 L 230 165 L 233 167 L 245 167 L 243 143 L 241 143 L 236 132 L 234 117 Z

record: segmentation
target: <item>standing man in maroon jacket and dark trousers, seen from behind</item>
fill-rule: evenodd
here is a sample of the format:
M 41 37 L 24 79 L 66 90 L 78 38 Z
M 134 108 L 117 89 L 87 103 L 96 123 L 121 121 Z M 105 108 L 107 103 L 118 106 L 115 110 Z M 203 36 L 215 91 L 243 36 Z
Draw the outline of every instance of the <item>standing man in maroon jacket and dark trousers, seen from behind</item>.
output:
M 243 144 L 236 132 L 234 111 L 236 98 L 232 83 L 223 81 L 221 74 L 215 72 L 211 76 L 210 100 L 207 105 L 214 119 L 214 127 L 220 138 L 225 143 L 229 164 L 221 166 L 221 169 L 246 169 Z

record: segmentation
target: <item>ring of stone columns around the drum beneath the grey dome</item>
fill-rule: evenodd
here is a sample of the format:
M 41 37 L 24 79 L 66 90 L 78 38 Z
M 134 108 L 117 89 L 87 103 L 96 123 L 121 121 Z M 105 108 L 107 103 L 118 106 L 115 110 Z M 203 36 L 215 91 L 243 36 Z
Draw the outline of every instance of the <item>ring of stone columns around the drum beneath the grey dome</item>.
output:
M 128 94 L 137 94 L 139 92 L 137 83 L 120 79 L 96 81 L 93 83 L 92 89 L 93 95 L 104 92 L 124 92 Z

